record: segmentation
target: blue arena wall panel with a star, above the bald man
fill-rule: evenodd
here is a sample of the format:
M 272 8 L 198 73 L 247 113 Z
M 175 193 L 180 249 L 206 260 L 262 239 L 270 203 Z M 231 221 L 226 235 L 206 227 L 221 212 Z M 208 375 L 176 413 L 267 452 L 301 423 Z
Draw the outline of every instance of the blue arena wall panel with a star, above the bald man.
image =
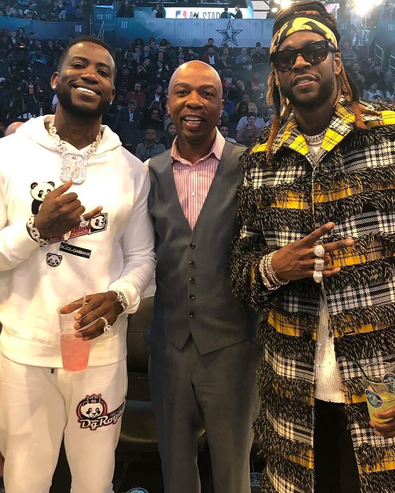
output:
M 95 14 L 96 15 L 96 14 Z M 102 20 L 104 22 L 104 19 Z M 215 46 L 270 46 L 272 19 L 139 19 L 116 18 L 115 33 L 104 24 L 104 39 L 125 47 L 136 38 L 145 42 L 168 39 L 173 46 L 204 46 L 209 37 Z M 97 21 L 96 21 L 97 26 Z M 99 26 L 100 29 L 100 26 Z M 95 31 L 96 32 L 96 31 Z

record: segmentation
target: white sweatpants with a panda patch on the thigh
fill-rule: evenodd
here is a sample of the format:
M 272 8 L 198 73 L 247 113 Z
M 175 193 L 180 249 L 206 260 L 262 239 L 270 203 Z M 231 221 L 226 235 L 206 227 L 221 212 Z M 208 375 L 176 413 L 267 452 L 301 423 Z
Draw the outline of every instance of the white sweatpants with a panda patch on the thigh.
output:
M 80 373 L 0 353 L 0 453 L 7 493 L 48 493 L 63 435 L 71 493 L 111 493 L 126 360 Z

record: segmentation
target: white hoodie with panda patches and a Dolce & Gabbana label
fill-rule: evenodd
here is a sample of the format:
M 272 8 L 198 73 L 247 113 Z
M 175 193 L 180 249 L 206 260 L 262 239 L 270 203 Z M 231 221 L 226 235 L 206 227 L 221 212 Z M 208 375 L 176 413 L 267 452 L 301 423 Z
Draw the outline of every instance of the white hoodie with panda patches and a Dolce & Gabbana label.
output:
M 147 170 L 106 126 L 88 159 L 86 180 L 69 190 L 86 212 L 103 207 L 100 217 L 72 230 L 68 240 L 75 250 L 91 250 L 90 259 L 60 251 L 63 238 L 44 247 L 30 238 L 27 219 L 47 191 L 62 184 L 61 153 L 44 126 L 51 118 L 31 119 L 0 140 L 0 351 L 19 363 L 60 367 L 58 308 L 82 297 L 86 279 L 87 294 L 122 291 L 127 312 L 135 312 L 152 278 L 155 254 Z M 89 146 L 67 147 L 83 153 Z M 123 314 L 111 331 L 92 340 L 89 366 L 126 356 L 126 328 Z

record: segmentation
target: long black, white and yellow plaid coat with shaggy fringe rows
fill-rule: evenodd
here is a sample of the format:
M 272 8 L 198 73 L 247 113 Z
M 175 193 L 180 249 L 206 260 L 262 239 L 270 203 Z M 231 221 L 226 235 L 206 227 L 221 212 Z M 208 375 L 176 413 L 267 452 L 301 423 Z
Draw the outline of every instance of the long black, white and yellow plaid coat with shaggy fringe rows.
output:
M 316 164 L 292 114 L 274 142 L 270 166 L 267 133 L 243 155 L 241 231 L 230 263 L 239 300 L 267 316 L 255 423 L 267 464 L 264 493 L 314 492 L 322 287 L 303 279 L 268 293 L 259 264 L 263 255 L 329 221 L 336 227 L 324 242 L 355 240 L 333 252 L 331 267 L 342 269 L 323 285 L 362 493 L 395 492 L 395 438 L 376 436 L 369 426 L 359 366 L 395 360 L 395 108 L 379 109 L 380 116 L 364 116 L 369 130 L 359 130 L 350 105 L 340 100 Z

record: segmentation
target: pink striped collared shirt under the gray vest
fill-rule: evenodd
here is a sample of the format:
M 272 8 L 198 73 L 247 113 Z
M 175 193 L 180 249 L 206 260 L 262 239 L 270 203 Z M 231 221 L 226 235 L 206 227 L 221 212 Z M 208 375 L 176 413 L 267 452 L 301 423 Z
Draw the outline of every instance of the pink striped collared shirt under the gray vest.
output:
M 173 174 L 176 182 L 178 199 L 191 229 L 194 229 L 197 218 L 206 200 L 215 172 L 221 160 L 225 139 L 217 129 L 217 135 L 210 152 L 191 163 L 180 156 L 177 137 L 171 148 Z

